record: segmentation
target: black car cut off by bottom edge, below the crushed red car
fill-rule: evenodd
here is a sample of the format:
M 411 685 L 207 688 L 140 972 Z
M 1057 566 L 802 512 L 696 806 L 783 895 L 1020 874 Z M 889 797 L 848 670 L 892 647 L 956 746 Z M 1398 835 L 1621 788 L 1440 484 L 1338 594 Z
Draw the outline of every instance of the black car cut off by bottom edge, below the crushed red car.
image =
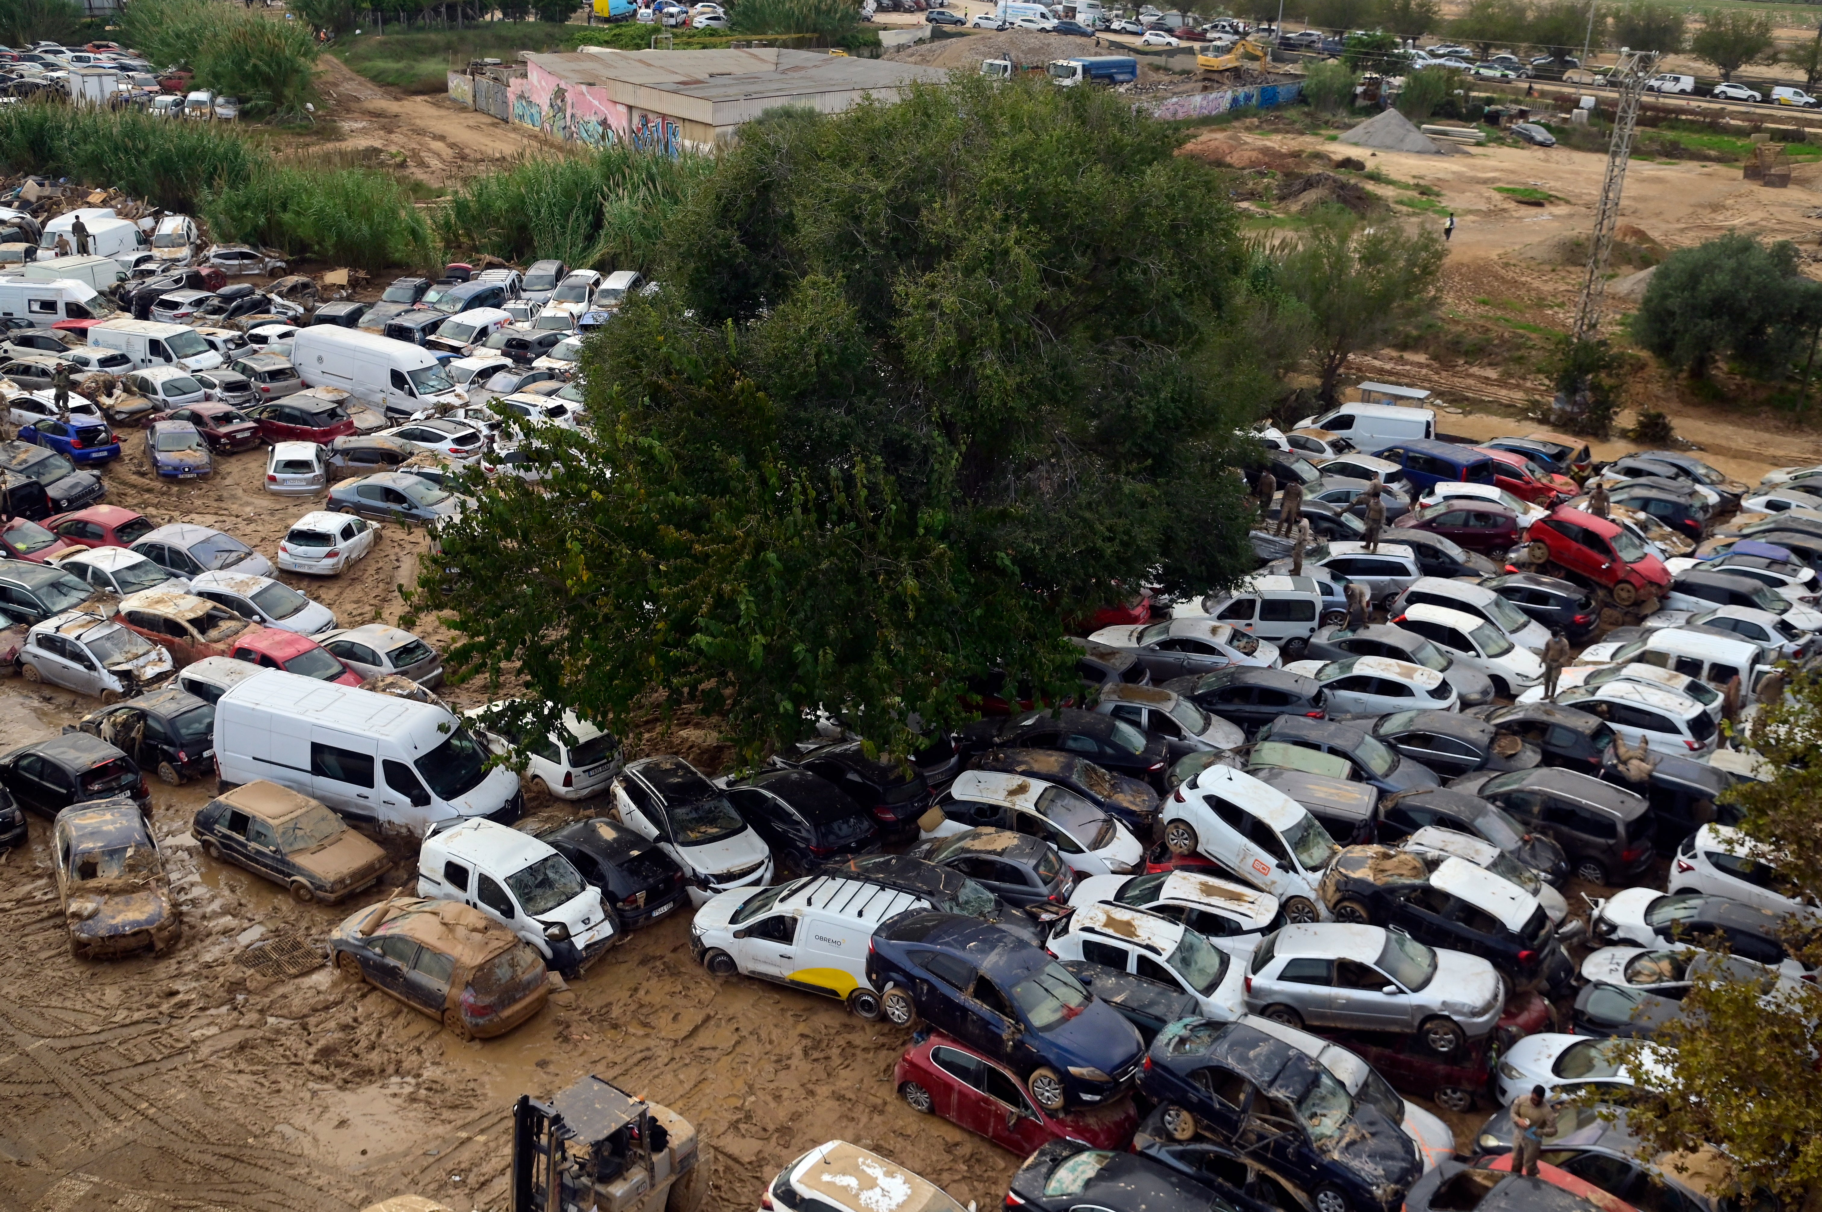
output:
M 1049 1141 L 1013 1174 L 1006 1207 L 1033 1212 L 1266 1212 L 1266 1205 L 1190 1177 L 1157 1157 Z M 1295 1208 L 1295 1203 L 1285 1207 Z

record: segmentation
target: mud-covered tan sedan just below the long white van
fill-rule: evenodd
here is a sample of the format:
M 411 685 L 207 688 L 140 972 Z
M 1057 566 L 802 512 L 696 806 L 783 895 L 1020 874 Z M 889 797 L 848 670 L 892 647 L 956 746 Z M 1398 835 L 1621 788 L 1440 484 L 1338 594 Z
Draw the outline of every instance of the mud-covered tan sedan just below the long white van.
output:
M 211 707 L 204 707 L 211 711 Z M 257 778 L 200 809 L 189 833 L 215 862 L 231 862 L 302 902 L 333 904 L 368 888 L 392 860 L 328 807 L 290 787 Z

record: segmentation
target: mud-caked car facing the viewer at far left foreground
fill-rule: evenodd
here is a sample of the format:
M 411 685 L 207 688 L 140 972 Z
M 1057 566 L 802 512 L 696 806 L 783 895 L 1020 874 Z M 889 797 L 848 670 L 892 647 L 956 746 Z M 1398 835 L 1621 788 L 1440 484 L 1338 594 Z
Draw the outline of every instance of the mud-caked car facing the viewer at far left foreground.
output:
M 75 804 L 53 829 L 56 895 L 78 959 L 177 944 L 182 920 L 146 815 L 126 796 Z

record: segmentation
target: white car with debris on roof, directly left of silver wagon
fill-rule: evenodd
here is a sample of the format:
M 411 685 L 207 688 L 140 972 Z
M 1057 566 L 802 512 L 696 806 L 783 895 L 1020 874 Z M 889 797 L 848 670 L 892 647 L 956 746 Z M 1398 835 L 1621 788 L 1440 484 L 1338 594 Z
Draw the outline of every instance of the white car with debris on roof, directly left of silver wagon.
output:
M 1246 1013 L 1241 997 L 1246 964 L 1168 917 L 1122 904 L 1084 904 L 1062 920 L 1044 950 L 1060 960 L 1088 960 L 1182 990 L 1208 1019 L 1232 1022 Z

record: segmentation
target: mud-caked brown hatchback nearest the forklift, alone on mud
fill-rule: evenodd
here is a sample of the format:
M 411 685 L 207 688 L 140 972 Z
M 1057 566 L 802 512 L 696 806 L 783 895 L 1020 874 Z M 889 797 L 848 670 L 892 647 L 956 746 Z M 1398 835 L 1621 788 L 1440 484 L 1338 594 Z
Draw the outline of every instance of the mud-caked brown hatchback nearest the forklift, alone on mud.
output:
M 457 1039 L 505 1035 L 550 999 L 545 957 L 457 900 L 366 906 L 330 933 L 328 951 L 346 979 L 441 1019 Z

